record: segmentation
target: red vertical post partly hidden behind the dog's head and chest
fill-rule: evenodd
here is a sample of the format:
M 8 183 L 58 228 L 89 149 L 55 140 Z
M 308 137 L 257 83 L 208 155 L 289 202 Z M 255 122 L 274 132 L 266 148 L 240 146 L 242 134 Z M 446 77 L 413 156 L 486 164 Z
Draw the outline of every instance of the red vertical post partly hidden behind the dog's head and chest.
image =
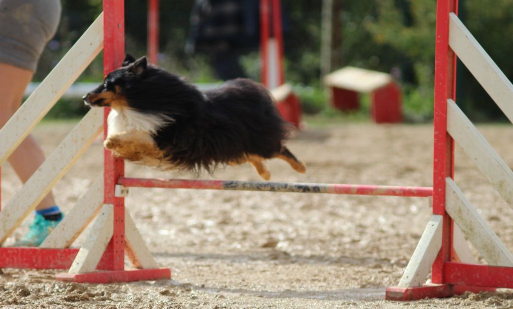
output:
M 120 67 L 125 56 L 125 4 L 123 0 L 105 0 L 104 11 L 104 75 Z M 107 115 L 105 108 L 104 138 L 107 137 Z M 105 203 L 114 205 L 114 231 L 107 250 L 111 249 L 112 268 L 120 271 L 125 268 L 125 200 L 114 197 L 117 179 L 124 176 L 123 160 L 112 157 L 109 150 L 104 150 Z

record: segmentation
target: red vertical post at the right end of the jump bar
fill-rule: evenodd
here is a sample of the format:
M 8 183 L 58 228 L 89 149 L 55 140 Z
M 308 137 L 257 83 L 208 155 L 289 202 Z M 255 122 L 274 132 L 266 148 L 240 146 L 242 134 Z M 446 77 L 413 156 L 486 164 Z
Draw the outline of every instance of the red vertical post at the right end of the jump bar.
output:
M 431 269 L 431 281 L 444 283 L 444 263 L 451 260 L 452 220 L 445 211 L 445 179 L 454 177 L 454 141 L 447 133 L 447 99 L 455 98 L 456 55 L 449 47 L 449 13 L 458 0 L 438 0 L 435 56 L 433 214 L 444 216 L 442 248 Z

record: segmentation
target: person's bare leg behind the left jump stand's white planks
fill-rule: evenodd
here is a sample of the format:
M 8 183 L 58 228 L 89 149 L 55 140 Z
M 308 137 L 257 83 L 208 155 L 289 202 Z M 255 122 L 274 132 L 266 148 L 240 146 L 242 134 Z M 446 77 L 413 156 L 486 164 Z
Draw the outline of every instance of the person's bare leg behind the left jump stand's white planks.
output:
M 0 127 L 3 127 L 22 103 L 23 92 L 32 79 L 32 71 L 0 63 Z M 45 161 L 45 156 L 36 140 L 29 135 L 11 154 L 9 163 L 25 183 L 37 168 Z M 50 192 L 36 209 L 45 209 L 55 205 Z

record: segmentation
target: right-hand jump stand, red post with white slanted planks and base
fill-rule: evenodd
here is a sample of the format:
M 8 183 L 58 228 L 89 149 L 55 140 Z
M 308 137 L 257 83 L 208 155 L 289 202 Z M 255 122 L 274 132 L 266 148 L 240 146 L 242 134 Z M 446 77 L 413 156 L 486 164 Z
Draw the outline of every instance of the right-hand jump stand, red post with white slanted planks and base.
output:
M 399 285 L 387 289 L 389 300 L 513 288 L 513 255 L 454 181 L 456 142 L 513 207 L 513 172 L 455 103 L 456 56 L 512 122 L 513 85 L 465 28 L 457 13 L 458 0 L 438 0 L 433 215 Z M 476 262 L 468 251 L 465 237 L 488 265 Z M 429 271 L 431 283 L 425 284 Z

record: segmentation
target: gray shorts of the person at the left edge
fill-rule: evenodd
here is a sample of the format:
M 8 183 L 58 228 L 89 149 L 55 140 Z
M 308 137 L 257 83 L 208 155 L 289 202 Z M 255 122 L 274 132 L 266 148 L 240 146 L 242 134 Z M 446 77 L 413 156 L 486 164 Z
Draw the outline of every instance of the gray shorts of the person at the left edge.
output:
M 35 71 L 60 18 L 60 0 L 0 0 L 0 62 Z

